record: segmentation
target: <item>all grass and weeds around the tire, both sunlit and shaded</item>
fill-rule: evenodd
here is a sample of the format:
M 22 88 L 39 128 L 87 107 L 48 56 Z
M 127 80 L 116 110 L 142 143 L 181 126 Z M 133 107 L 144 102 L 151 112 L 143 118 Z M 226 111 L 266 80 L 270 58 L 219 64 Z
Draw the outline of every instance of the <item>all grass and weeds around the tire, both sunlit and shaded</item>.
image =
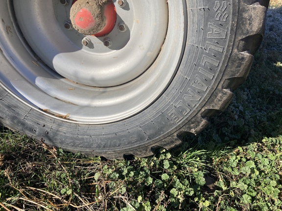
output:
M 179 148 L 108 161 L 2 128 L 0 210 L 281 211 L 282 9 L 267 16 L 248 80 Z

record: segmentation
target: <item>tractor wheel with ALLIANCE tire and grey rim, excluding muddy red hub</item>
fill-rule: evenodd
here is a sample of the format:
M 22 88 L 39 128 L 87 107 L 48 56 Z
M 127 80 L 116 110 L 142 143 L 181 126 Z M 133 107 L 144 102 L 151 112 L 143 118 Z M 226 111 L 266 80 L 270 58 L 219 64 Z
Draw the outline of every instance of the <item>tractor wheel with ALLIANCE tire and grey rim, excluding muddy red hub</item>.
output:
M 123 159 L 179 146 L 223 112 L 263 39 L 269 0 L 114 1 L 116 26 L 99 37 L 72 28 L 71 3 L 1 1 L 0 122 Z

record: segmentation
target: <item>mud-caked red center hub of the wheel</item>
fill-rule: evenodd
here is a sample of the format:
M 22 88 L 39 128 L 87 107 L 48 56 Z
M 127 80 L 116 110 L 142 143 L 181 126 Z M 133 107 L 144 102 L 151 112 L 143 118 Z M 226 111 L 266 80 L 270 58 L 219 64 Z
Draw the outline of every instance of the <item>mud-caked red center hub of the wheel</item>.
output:
M 76 0 L 70 18 L 73 28 L 81 34 L 100 37 L 113 30 L 117 12 L 111 0 Z

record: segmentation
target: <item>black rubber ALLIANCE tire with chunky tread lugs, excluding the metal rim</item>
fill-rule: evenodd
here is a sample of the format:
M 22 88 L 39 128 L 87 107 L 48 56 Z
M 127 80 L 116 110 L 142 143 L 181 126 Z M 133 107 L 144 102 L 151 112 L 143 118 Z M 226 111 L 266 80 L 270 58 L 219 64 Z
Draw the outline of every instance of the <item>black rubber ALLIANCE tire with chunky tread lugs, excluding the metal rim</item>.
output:
M 171 84 L 126 120 L 89 125 L 52 118 L 0 86 L 0 122 L 46 144 L 90 156 L 145 157 L 181 144 L 221 113 L 243 83 L 263 38 L 269 0 L 187 0 L 187 45 Z M 0 24 L 3 24 L 0 22 Z M 0 71 L 7 60 L 0 49 Z

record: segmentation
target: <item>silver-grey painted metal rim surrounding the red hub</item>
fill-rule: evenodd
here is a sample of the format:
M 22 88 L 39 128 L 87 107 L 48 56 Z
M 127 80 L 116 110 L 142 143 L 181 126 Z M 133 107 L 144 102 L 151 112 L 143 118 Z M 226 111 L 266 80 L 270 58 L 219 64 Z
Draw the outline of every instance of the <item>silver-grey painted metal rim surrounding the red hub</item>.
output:
M 12 39 L 7 34 L 3 34 L 0 38 L 1 49 L 4 49 L 6 58 L 17 58 L 16 60 L 9 59 L 14 69 L 1 73 L 2 83 L 26 103 L 58 117 L 65 117 L 66 121 L 74 120 L 89 124 L 111 123 L 128 118 L 151 105 L 169 85 L 180 62 L 186 31 L 184 17 L 180 11 L 184 10 L 185 5 L 173 1 L 166 5 L 166 0 L 157 2 L 143 0 L 137 3 L 128 1 L 128 8 L 126 6 L 121 8 L 117 1 L 114 3 L 118 14 L 114 30 L 99 38 L 87 36 L 92 43 L 96 44 L 93 44 L 94 48 L 91 48 L 91 46 L 82 45 L 84 35 L 73 29 L 66 29 L 65 24 L 68 21 L 68 11 L 71 5 L 62 5 L 59 0 L 30 0 L 24 3 L 20 0 L 8 1 L 9 13 L 2 9 L 1 14 L 5 15 L 5 18 L 9 17 L 11 22 L 17 19 L 20 27 L 11 28 L 18 35 L 17 37 L 14 36 Z M 12 5 L 15 8 L 15 14 Z M 168 26 L 165 19 L 162 18 L 165 7 L 168 7 L 168 13 L 166 13 L 169 14 Z M 149 8 L 151 10 L 149 14 L 153 14 L 153 17 L 151 15 L 148 15 L 149 18 L 145 16 L 146 19 L 141 17 L 145 14 L 141 8 L 147 8 L 147 10 Z M 162 12 L 154 13 L 157 8 L 163 8 Z M 62 9 L 67 12 L 62 12 Z M 26 15 L 25 11 L 32 12 Z M 34 14 L 38 15 L 38 12 L 42 17 L 35 19 Z M 26 21 L 28 19 L 35 21 L 31 21 L 31 24 L 28 25 Z M 134 21 L 130 21 L 132 19 Z M 46 28 L 41 30 L 40 26 L 46 25 L 46 20 L 49 21 L 50 28 L 47 31 Z M 128 27 L 125 32 L 118 31 L 118 24 L 121 22 L 125 22 Z M 141 26 L 143 30 L 140 28 L 141 22 L 145 22 Z M 138 34 L 146 31 L 146 26 L 152 25 L 152 22 L 160 24 L 153 30 L 147 30 L 149 33 L 146 34 L 146 37 L 150 39 L 136 43 L 140 37 Z M 37 26 L 36 30 L 34 25 Z M 59 32 L 49 33 L 55 29 Z M 31 32 L 34 31 L 36 33 L 31 35 Z M 21 33 L 24 34 L 27 42 L 24 41 Z M 155 36 L 156 33 L 158 36 Z M 122 36 L 115 40 L 115 37 L 121 34 Z M 162 39 L 156 39 L 160 37 Z M 103 44 L 107 38 L 113 42 L 111 47 Z M 143 43 L 143 50 L 140 49 L 142 48 L 141 43 Z M 43 47 L 40 47 L 40 44 Z M 61 53 L 62 47 L 60 46 L 67 48 L 69 53 Z M 132 51 L 122 54 L 127 47 L 139 49 L 139 54 L 133 55 Z M 48 53 L 54 49 L 55 53 Z M 78 54 L 73 54 L 75 52 L 81 54 L 77 56 Z M 82 69 L 81 58 L 84 59 L 82 60 L 84 66 L 90 66 L 90 69 L 93 69 L 91 66 L 93 55 L 97 55 L 96 60 L 106 58 L 97 71 L 99 74 L 94 75 L 98 80 L 93 80 L 93 75 L 89 76 L 87 72 L 89 70 L 85 70 L 80 75 L 80 72 L 77 71 L 70 74 L 70 68 L 64 68 L 68 66 L 66 63 L 71 63 L 71 66 L 77 64 L 78 60 L 75 60 L 77 57 L 80 67 L 76 69 Z M 120 55 L 124 58 L 118 60 L 118 63 L 107 63 L 107 58 L 111 57 L 111 61 L 115 61 L 117 59 L 115 57 Z M 144 55 L 148 58 L 143 59 Z M 136 63 L 129 64 L 126 62 L 128 58 Z M 110 66 L 109 71 L 101 73 L 107 69 L 105 65 Z M 117 71 L 113 65 L 126 66 L 126 70 Z M 118 75 L 113 72 L 115 70 Z

